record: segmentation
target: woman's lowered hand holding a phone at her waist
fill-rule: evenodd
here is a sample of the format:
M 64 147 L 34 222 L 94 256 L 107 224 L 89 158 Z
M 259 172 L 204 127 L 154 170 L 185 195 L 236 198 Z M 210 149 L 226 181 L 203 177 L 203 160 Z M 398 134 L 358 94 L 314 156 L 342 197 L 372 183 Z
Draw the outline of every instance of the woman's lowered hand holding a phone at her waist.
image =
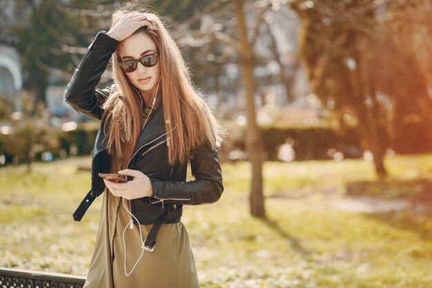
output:
M 128 200 L 153 196 L 150 179 L 141 171 L 126 169 L 119 171 L 118 175 L 124 178 L 131 176 L 133 180 L 121 183 L 112 181 L 117 180 L 118 177 L 112 177 L 111 179 L 110 177 L 105 177 L 104 183 L 112 195 Z

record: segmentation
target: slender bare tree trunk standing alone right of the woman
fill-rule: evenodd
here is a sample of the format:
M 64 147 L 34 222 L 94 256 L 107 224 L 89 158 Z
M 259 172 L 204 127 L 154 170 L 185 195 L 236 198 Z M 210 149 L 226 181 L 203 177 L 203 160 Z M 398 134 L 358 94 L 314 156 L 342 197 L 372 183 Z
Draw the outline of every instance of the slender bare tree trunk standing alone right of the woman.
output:
M 244 19 L 243 1 L 234 0 L 235 15 L 239 28 L 240 50 L 239 65 L 242 67 L 242 82 L 246 94 L 247 138 L 246 145 L 248 159 L 252 164 L 252 186 L 250 194 L 251 215 L 266 218 L 264 209 L 264 195 L 262 191 L 262 142 L 256 122 L 253 79 L 253 52 L 252 45 L 247 38 L 246 23 Z

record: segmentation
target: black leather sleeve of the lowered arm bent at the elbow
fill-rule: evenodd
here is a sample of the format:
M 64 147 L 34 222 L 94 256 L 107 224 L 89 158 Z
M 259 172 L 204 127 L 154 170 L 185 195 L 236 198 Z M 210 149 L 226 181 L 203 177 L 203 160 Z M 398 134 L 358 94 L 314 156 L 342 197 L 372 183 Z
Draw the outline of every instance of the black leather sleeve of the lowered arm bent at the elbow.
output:
M 217 150 L 208 142 L 197 147 L 190 160 L 195 180 L 188 182 L 163 181 L 150 178 L 153 198 L 150 204 L 210 204 L 219 200 L 224 191 L 222 171 Z

